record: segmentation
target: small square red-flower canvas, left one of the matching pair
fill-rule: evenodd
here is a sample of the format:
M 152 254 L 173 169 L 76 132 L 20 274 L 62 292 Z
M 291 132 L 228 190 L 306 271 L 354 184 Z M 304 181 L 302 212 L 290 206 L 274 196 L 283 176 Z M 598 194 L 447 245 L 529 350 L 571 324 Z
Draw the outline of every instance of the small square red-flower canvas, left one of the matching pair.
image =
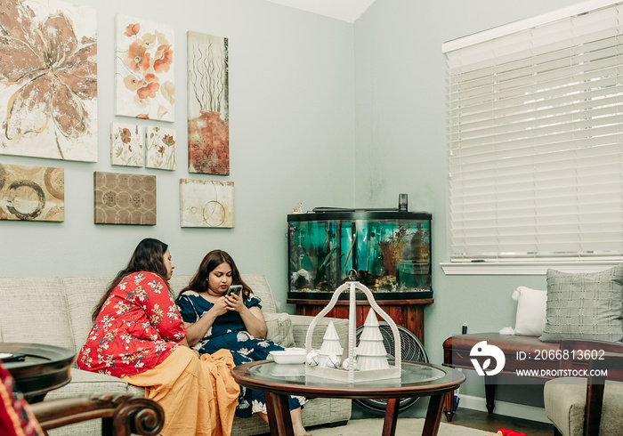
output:
M 110 124 L 110 165 L 142 166 L 144 130 L 142 125 Z

